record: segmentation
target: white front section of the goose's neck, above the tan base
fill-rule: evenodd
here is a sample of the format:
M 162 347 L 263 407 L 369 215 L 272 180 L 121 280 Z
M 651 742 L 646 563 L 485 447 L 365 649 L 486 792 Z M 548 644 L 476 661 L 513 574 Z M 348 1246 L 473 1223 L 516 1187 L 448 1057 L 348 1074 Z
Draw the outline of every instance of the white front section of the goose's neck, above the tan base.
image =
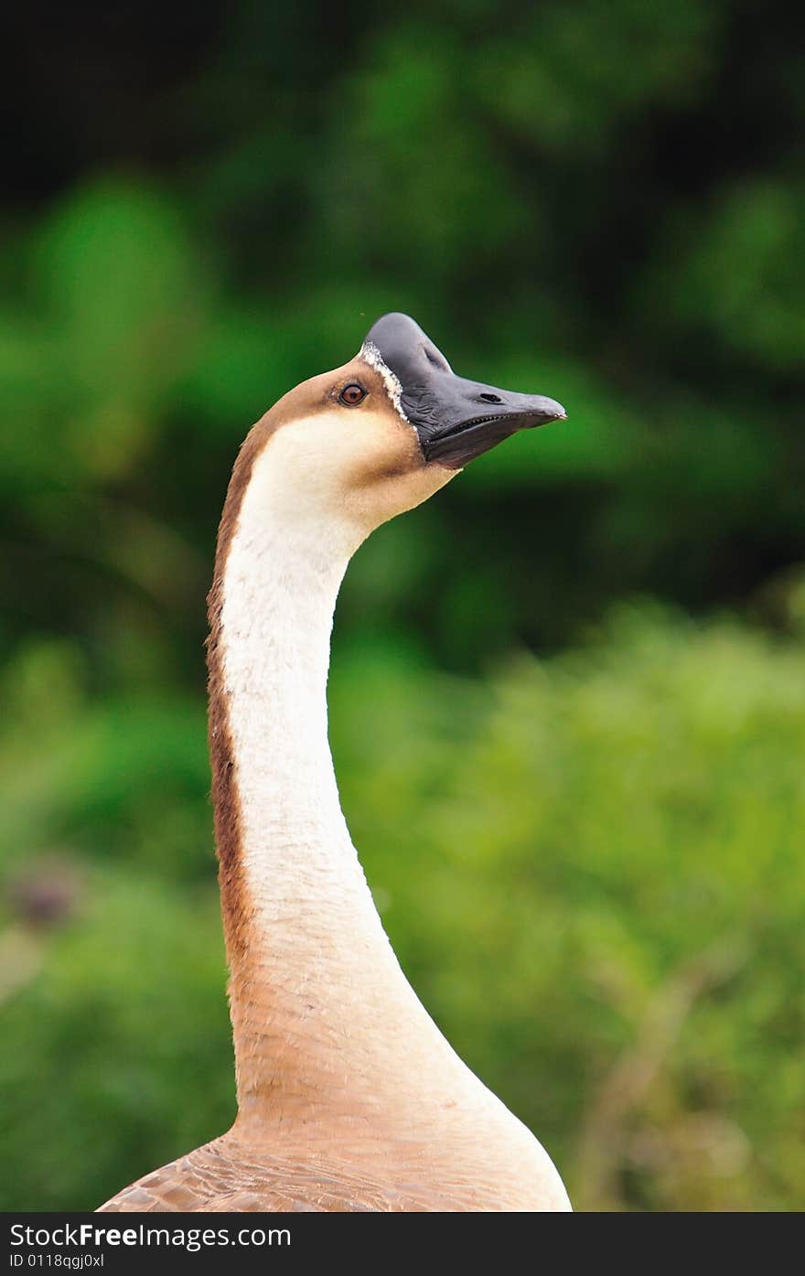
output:
M 270 447 L 258 459 L 223 577 L 223 672 L 241 856 L 263 928 L 304 928 L 300 906 L 374 905 L 341 810 L 327 735 L 336 597 L 348 528 L 287 521 Z M 343 920 L 343 919 L 342 919 Z

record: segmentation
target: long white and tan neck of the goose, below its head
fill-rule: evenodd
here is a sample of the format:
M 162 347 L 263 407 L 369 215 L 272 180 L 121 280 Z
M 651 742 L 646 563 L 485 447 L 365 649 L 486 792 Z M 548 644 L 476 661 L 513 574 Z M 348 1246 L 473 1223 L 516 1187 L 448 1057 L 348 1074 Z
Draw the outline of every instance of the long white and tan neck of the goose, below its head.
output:
M 329 638 L 353 544 L 290 527 L 267 472 L 258 461 L 239 510 L 225 510 L 210 596 L 213 795 L 241 1122 L 288 1120 L 311 1096 L 332 1113 L 344 1086 L 350 1104 L 357 1087 L 371 1106 L 401 1068 L 401 1041 L 448 1049 L 390 949 L 333 773 Z

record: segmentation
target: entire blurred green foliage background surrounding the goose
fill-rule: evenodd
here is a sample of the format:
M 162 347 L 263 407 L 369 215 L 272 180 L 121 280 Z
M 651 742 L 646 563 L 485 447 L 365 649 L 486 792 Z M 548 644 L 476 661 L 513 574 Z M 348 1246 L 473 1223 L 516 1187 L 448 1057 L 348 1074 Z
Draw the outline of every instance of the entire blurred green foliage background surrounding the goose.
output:
M 801 1208 L 801 22 L 40 18 L 0 226 L 0 1207 L 93 1207 L 231 1120 L 217 518 L 250 422 L 402 309 L 569 412 L 339 602 L 333 749 L 403 966 L 578 1208 Z

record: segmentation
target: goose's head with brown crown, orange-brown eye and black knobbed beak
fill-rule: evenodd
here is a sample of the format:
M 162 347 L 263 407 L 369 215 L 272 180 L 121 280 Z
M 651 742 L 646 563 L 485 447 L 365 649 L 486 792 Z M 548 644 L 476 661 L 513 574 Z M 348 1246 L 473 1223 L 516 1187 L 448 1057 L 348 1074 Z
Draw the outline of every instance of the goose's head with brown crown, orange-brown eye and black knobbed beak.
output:
M 334 519 L 360 544 L 503 439 L 564 417 L 542 394 L 458 376 L 413 319 L 387 314 L 355 359 L 302 382 L 259 427 L 286 526 Z

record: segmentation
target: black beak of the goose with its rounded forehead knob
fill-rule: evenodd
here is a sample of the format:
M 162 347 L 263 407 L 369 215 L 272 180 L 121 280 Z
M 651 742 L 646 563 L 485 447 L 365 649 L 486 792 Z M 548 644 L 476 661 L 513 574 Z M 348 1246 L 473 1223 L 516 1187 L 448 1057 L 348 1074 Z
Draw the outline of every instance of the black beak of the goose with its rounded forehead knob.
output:
M 399 406 L 415 426 L 426 461 L 462 470 L 517 430 L 561 421 L 561 403 L 542 394 L 517 394 L 457 376 L 418 324 L 388 314 L 369 329 L 362 347 L 399 383 Z

